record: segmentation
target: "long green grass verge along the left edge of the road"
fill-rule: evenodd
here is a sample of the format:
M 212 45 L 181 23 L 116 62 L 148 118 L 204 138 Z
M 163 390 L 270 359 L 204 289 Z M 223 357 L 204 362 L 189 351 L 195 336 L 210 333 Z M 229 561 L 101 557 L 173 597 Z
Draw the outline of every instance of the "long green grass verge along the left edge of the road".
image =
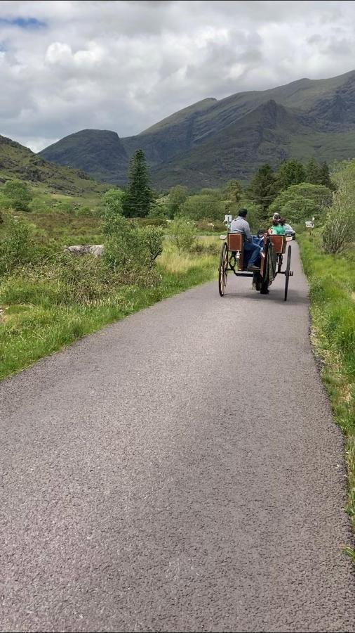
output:
M 217 238 L 203 238 L 203 242 L 216 243 Z M 56 276 L 55 264 L 53 274 L 49 267 L 42 276 L 25 269 L 24 274 L 18 271 L 0 283 L 4 310 L 0 313 L 0 379 L 102 326 L 210 281 L 216 275 L 217 255 L 182 255 L 167 241 L 156 267 L 158 274 L 145 287 L 112 281 L 108 291 L 95 279 L 98 260 L 83 257 L 76 265 L 83 267 L 83 278 L 74 293 L 69 282 Z

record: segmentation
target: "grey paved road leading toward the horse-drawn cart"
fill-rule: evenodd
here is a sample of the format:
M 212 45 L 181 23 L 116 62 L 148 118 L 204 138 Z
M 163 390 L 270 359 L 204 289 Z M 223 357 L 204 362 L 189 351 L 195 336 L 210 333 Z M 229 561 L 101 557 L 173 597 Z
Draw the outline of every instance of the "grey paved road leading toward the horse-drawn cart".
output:
M 293 267 L 286 304 L 207 284 L 2 383 L 1 630 L 355 630 Z

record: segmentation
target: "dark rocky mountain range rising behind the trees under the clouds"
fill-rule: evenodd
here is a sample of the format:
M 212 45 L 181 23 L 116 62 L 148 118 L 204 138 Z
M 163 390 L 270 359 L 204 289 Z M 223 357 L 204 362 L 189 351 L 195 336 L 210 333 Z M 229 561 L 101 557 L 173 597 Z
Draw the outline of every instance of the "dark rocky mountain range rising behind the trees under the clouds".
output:
M 231 178 L 248 181 L 262 162 L 276 167 L 290 156 L 328 162 L 353 158 L 355 70 L 219 101 L 206 98 L 128 138 L 83 130 L 41 156 L 123 184 L 128 157 L 138 148 L 145 151 L 154 186 L 162 189 L 216 186 Z

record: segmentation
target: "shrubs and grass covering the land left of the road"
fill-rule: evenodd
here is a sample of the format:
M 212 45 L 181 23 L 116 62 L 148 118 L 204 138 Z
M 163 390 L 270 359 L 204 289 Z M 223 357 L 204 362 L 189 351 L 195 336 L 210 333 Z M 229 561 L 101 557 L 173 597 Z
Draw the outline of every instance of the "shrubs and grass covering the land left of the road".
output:
M 149 193 L 149 196 L 151 194 Z M 185 288 L 217 268 L 217 236 L 180 232 L 168 222 L 123 216 L 123 191 L 91 200 L 45 197 L 8 181 L 0 188 L 0 378 L 105 324 Z M 149 198 L 150 199 L 150 198 Z M 67 245 L 103 244 L 102 257 L 75 256 Z

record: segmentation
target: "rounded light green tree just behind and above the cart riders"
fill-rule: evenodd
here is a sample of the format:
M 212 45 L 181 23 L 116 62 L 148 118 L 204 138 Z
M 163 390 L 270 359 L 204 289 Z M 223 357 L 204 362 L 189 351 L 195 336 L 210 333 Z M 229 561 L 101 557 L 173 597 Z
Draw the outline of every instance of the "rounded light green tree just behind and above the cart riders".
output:
M 302 182 L 282 191 L 270 205 L 270 213 L 279 213 L 290 222 L 303 222 L 319 216 L 333 200 L 333 193 L 323 185 Z

